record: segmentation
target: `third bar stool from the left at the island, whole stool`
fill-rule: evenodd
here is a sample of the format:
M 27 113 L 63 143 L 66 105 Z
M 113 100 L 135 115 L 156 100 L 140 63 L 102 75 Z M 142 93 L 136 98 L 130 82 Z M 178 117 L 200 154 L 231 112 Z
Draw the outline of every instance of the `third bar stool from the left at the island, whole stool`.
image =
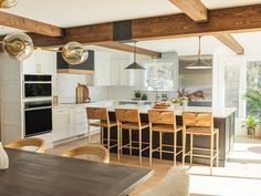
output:
M 174 155 L 174 164 L 176 165 L 177 155 L 182 153 L 182 146 L 177 146 L 177 134 L 181 133 L 182 127 L 177 126 L 176 115 L 174 111 L 159 111 L 159 110 L 149 110 L 148 111 L 148 121 L 149 121 L 149 165 L 152 165 L 153 153 L 159 152 L 159 158 L 161 159 L 163 153 L 170 153 Z M 153 147 L 153 132 L 159 133 L 159 146 Z M 164 144 L 163 134 L 170 133 L 173 134 L 173 144 Z M 163 147 L 171 147 L 173 151 L 163 149 Z M 179 151 L 177 151 L 177 148 Z

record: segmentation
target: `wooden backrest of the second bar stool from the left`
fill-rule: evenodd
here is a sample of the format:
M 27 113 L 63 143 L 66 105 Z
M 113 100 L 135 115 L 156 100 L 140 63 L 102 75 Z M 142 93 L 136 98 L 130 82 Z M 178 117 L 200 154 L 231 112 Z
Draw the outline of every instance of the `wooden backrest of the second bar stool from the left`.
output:
M 116 120 L 119 123 L 138 123 L 140 117 L 138 110 L 134 109 L 115 109 Z

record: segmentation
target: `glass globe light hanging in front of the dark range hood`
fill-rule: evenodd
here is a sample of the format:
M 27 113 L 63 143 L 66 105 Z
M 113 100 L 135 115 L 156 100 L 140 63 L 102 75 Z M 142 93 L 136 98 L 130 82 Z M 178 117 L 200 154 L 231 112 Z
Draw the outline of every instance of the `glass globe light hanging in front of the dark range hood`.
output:
M 84 63 L 88 58 L 87 49 L 79 42 L 69 42 L 58 52 L 61 52 L 64 61 L 72 65 Z

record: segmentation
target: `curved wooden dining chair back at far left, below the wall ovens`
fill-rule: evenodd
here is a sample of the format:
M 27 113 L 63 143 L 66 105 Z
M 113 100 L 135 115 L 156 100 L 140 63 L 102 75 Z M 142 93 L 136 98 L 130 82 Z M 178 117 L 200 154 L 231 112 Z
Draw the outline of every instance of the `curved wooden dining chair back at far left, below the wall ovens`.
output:
M 19 141 L 7 144 L 4 147 L 25 151 L 27 148 L 28 151 L 30 151 L 31 147 L 34 147 L 35 149 L 33 151 L 36 153 L 44 153 L 45 151 L 44 141 L 38 137 L 21 138 Z

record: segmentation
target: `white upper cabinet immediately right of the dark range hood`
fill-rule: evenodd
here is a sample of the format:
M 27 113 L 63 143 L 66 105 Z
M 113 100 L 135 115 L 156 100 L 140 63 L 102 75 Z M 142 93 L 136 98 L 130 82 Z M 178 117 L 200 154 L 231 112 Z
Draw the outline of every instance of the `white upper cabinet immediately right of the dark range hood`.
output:
M 111 85 L 111 55 L 105 52 L 94 53 L 94 85 L 108 86 Z

